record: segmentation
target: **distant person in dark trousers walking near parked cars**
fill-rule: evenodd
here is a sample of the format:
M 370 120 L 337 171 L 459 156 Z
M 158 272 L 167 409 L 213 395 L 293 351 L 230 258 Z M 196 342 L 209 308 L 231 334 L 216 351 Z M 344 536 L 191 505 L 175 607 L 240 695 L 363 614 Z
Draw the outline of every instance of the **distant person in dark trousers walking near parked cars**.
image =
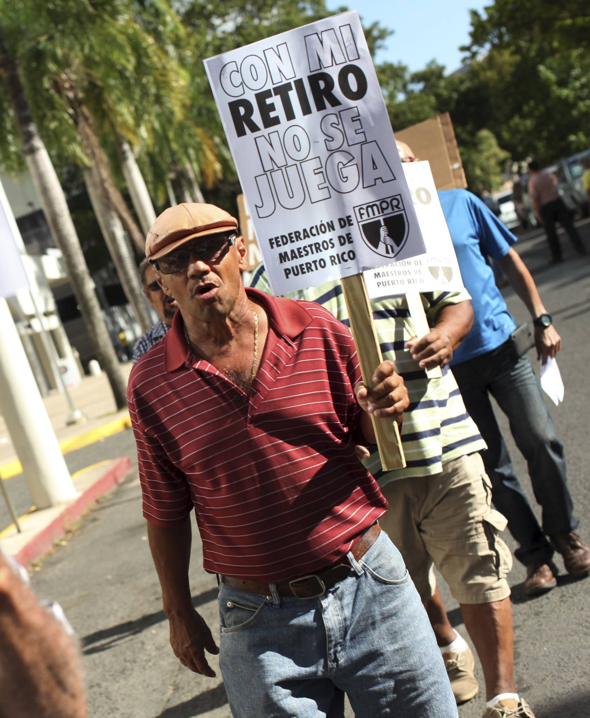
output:
M 547 241 L 551 250 L 551 262 L 557 264 L 563 260 L 556 222 L 560 223 L 563 229 L 566 230 L 571 243 L 576 248 L 576 252 L 585 256 L 586 248 L 578 230 L 574 227 L 574 220 L 572 220 L 568 208 L 559 196 L 555 175 L 539 169 L 539 164 L 534 159 L 528 163 L 528 172 L 530 174 L 528 194 L 533 200 L 539 224 L 545 225 Z

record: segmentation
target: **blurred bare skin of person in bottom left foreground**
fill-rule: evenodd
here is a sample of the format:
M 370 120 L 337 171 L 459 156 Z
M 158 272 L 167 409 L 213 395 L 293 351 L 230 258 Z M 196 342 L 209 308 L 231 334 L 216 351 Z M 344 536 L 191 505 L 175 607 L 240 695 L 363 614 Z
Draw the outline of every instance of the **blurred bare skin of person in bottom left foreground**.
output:
M 17 571 L 0 549 L 0 716 L 84 718 L 75 643 Z

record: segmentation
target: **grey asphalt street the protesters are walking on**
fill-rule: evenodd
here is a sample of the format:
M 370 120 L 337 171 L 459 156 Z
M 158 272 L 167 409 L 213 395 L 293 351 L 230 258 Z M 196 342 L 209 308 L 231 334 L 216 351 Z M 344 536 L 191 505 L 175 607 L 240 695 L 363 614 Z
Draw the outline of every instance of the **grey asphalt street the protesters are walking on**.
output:
M 590 248 L 590 220 L 580 230 Z M 566 261 L 548 266 L 548 251 L 539 231 L 525 233 L 518 251 L 533 271 L 541 297 L 553 314 L 563 339 L 558 357 L 566 386 L 565 401 L 551 405 L 558 436 L 566 444 L 568 480 L 580 532 L 590 540 L 590 469 L 586 381 L 590 353 L 590 261 L 574 257 L 562 238 Z M 525 307 L 505 290 L 517 323 L 529 319 Z M 533 353 L 531 352 L 531 359 Z M 531 503 L 525 462 L 515 449 L 507 422 L 499 417 L 508 439 L 517 474 Z M 68 454 L 68 465 L 90 465 L 127 454 L 135 460 L 130 431 L 117 434 L 79 452 Z M 21 510 L 28 508 L 22 478 L 7 482 Z M 514 548 L 510 536 L 505 536 Z M 558 560 L 561 567 L 561 561 Z M 217 584 L 201 568 L 200 542 L 194 540 L 191 589 L 194 605 L 214 629 Z M 526 600 L 524 569 L 515 564 L 510 574 L 515 625 L 515 679 L 518 690 L 535 709 L 537 718 L 587 718 L 590 715 L 590 578 L 574 580 L 563 572 L 558 587 L 543 597 Z M 33 577 L 40 595 L 58 600 L 77 634 L 87 674 L 91 718 L 229 718 L 216 657 L 211 663 L 217 678 L 204 679 L 181 666 L 168 643 L 161 596 L 141 516 L 141 492 L 135 472 L 104 498 L 87 516 L 79 533 L 47 557 Z M 440 582 L 453 625 L 467 638 L 457 603 Z M 244 661 L 247 661 L 244 656 Z M 483 687 L 479 666 L 477 675 Z M 480 718 L 483 693 L 460 707 L 461 718 Z M 351 716 L 351 713 L 347 715 Z M 265 717 L 260 717 L 265 718 Z

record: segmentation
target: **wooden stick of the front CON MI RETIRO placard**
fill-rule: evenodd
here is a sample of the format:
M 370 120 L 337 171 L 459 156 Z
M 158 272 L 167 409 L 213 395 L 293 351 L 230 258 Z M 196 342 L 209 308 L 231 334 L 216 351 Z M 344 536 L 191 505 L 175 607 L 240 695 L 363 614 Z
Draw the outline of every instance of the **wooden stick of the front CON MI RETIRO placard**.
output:
M 374 386 L 373 372 L 383 361 L 383 355 L 373 322 L 373 309 L 368 298 L 365 279 L 362 274 L 353 274 L 342 277 L 341 283 L 363 383 L 371 388 Z M 372 414 L 371 419 L 384 470 L 403 469 L 406 459 L 404 449 L 401 447 L 397 422 L 389 418 L 376 419 Z

